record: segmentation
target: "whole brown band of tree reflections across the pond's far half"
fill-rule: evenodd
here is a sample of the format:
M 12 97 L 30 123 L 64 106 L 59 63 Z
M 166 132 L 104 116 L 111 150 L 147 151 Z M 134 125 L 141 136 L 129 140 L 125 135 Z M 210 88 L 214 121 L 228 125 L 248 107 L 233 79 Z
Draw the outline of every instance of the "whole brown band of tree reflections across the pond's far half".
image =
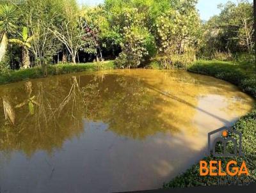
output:
M 84 132 L 84 118 L 107 123 L 112 132 L 133 139 L 184 128 L 196 134 L 191 120 L 197 96 L 211 91 L 188 74 L 93 74 L 3 86 L 0 150 L 51 153 Z

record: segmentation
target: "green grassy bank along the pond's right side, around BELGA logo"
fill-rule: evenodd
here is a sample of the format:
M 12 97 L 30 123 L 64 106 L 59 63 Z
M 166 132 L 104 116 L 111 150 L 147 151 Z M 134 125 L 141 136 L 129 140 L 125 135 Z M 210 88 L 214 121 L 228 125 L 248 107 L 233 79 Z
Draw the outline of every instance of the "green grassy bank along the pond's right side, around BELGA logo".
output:
M 197 61 L 188 68 L 189 72 L 210 75 L 218 79 L 236 84 L 244 92 L 256 98 L 256 74 L 253 63 L 232 63 L 221 61 Z M 243 134 L 242 144 L 244 157 L 204 157 L 202 160 L 221 160 L 223 168 L 229 160 L 236 160 L 241 166 L 246 162 L 250 176 L 200 176 L 199 160 L 183 174 L 164 183 L 164 189 L 174 187 L 195 187 L 208 185 L 245 185 L 256 182 L 256 109 L 240 118 L 234 125 L 234 129 Z

